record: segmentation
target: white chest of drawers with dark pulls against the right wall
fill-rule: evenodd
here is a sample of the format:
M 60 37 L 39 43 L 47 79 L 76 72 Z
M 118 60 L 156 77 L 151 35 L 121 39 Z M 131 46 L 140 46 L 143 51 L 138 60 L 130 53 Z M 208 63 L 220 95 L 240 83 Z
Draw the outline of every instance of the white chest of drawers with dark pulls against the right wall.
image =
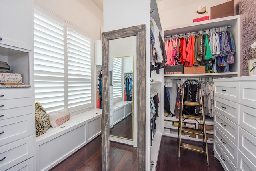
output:
M 255 170 L 256 76 L 214 79 L 214 90 L 215 157 L 225 170 Z

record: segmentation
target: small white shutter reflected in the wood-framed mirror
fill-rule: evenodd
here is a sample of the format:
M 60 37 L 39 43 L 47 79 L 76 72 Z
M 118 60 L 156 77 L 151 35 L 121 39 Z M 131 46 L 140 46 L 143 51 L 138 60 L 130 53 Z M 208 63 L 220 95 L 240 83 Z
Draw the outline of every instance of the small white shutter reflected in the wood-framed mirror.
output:
M 113 98 L 122 100 L 122 58 L 113 58 Z

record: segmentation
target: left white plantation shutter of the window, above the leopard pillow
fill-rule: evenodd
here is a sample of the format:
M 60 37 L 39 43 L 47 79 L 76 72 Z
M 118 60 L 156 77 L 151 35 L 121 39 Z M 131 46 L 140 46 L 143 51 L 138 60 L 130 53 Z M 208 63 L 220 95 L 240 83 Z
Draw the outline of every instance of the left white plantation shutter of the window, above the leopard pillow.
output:
M 47 112 L 64 109 L 64 28 L 34 12 L 35 101 Z

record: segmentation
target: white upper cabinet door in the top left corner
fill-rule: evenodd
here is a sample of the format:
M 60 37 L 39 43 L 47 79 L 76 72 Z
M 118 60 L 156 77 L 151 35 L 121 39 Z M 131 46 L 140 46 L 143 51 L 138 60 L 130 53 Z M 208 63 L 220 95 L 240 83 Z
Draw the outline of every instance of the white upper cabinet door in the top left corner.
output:
M 0 44 L 32 50 L 32 0 L 1 0 Z

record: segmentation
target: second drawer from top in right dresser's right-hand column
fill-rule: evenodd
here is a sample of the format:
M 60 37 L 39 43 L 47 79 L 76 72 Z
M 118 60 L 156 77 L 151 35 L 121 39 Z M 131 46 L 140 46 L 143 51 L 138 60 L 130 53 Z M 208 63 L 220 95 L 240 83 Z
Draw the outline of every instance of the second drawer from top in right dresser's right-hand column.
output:
M 240 105 L 240 127 L 256 137 L 256 109 Z

